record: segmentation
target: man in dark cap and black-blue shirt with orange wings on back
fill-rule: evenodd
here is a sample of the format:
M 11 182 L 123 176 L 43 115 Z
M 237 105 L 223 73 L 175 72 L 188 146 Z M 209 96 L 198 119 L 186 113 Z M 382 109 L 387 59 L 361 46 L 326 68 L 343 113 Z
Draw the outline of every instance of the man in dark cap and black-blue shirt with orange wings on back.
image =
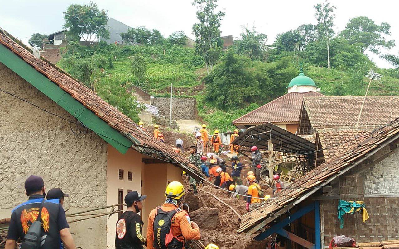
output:
M 26 195 L 29 200 L 11 211 L 10 227 L 6 241 L 6 249 L 14 249 L 16 240 L 23 241 L 30 225 L 36 221 L 40 212 L 40 206 L 45 197 L 45 186 L 43 179 L 31 175 L 25 181 Z M 58 199 L 46 200 L 41 210 L 41 234 L 42 241 L 40 249 L 59 248 L 59 241 L 62 239 L 67 249 L 76 249 L 69 225 L 65 218 L 65 212 L 59 204 Z

